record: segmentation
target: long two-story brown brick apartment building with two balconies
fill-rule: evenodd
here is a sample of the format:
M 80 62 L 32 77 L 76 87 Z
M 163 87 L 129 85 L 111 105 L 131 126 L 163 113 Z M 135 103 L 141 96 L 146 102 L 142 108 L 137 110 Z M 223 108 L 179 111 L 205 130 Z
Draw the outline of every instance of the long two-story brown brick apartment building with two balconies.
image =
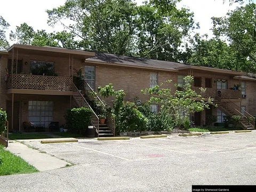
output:
M 0 51 L 0 107 L 6 110 L 10 130 L 23 131 L 22 122 L 49 126 L 50 122 L 65 123 L 66 110 L 86 106 L 79 87 L 73 83 L 76 71 L 82 69 L 86 84 L 95 87 L 112 83 L 116 90 L 126 92 L 126 100 L 149 99 L 142 89 L 172 79 L 171 86 L 183 84 L 183 77 L 194 76 L 193 89 L 205 87 L 204 98 L 212 97 L 218 107 L 191 114 L 196 125 L 204 125 L 206 115 L 243 116 L 242 126 L 251 127 L 251 115 L 256 115 L 254 88 L 256 79 L 245 73 L 209 67 L 184 65 L 107 53 L 69 50 L 14 44 Z M 235 90 L 233 87 L 240 85 Z M 85 103 L 85 104 L 84 104 Z M 157 105 L 151 105 L 157 110 Z M 95 114 L 94 121 L 97 121 Z M 254 123 L 253 123 L 254 125 Z

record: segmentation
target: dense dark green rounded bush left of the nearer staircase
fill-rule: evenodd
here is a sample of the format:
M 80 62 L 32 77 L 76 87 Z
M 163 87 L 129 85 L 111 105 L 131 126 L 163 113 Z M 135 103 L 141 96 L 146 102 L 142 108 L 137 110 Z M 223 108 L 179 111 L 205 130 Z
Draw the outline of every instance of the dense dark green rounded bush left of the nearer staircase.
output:
M 91 125 L 93 111 L 90 108 L 68 109 L 65 115 L 68 132 L 86 134 L 86 130 Z

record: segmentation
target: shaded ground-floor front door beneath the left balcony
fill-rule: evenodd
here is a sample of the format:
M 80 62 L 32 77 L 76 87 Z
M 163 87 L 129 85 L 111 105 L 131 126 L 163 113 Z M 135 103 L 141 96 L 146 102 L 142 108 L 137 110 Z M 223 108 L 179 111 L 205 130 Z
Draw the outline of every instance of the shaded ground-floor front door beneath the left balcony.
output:
M 7 101 L 7 121 L 9 130 L 12 130 L 12 101 Z M 13 131 L 20 130 L 20 101 L 14 101 L 13 105 Z

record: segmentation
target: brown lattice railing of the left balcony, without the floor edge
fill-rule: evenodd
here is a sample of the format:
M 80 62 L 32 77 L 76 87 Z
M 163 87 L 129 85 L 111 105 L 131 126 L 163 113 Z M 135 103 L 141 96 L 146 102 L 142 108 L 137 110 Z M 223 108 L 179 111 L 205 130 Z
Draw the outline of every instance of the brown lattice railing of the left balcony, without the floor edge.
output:
M 6 89 L 72 91 L 72 83 L 71 77 L 13 74 Z

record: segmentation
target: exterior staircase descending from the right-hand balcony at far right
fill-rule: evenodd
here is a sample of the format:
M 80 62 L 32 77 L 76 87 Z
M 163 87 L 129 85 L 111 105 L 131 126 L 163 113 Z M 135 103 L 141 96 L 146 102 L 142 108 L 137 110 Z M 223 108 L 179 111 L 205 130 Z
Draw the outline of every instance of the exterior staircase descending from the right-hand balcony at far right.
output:
M 212 98 L 214 98 L 214 103 L 218 105 L 218 108 L 223 111 L 223 113 L 233 116 L 233 115 L 239 115 L 241 116 L 241 119 L 239 120 L 239 124 L 241 124 L 242 129 L 244 130 L 252 130 L 254 129 L 254 117 L 247 113 L 247 111 L 243 110 L 241 107 L 236 105 L 233 101 L 230 99 L 225 98 L 222 99 L 221 96 L 219 96 L 218 92 L 214 93 L 212 92 Z M 243 113 L 242 113 L 243 112 Z

